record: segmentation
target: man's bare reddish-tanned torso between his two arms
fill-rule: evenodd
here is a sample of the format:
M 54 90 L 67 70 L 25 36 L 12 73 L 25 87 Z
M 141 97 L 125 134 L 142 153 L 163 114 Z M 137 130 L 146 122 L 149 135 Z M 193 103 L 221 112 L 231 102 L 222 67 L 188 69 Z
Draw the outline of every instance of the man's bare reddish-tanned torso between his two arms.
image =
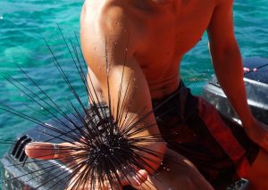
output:
M 141 42 L 135 59 L 147 78 L 152 98 L 161 98 L 178 87 L 180 60 L 202 37 L 217 2 L 170 0 L 167 4 L 155 4 L 151 0 L 88 0 L 81 18 L 94 22 L 92 18 L 104 7 L 125 9 L 134 26 L 131 35 L 137 35 Z

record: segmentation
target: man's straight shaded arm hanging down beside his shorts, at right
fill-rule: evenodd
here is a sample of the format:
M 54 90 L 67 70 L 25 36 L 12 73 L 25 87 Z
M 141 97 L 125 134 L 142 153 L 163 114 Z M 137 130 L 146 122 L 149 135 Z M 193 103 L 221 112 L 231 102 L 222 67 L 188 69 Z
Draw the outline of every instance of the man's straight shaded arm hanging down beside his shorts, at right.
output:
M 267 126 L 255 120 L 247 105 L 242 58 L 234 36 L 232 4 L 233 0 L 220 0 L 207 29 L 214 71 L 247 135 L 268 150 Z

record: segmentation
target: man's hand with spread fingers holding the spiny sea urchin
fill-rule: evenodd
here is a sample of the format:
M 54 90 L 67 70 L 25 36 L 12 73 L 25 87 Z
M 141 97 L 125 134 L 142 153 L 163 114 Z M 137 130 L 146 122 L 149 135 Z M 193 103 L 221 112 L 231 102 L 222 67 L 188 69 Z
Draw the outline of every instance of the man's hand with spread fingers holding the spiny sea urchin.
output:
M 29 158 L 41 159 L 41 160 L 59 160 L 65 163 L 70 169 L 75 169 L 76 166 L 81 164 L 82 160 L 78 159 L 78 157 L 80 153 L 83 153 L 83 151 L 75 151 L 77 146 L 79 146 L 79 143 L 52 144 L 52 143 L 34 142 L 26 145 L 25 153 Z M 146 170 L 139 169 L 134 175 L 130 175 L 127 178 L 121 177 L 121 185 L 127 186 L 131 184 L 131 186 L 135 187 L 141 186 L 147 180 L 147 176 L 148 173 Z M 72 189 L 72 187 L 75 185 L 75 181 L 78 180 L 79 177 L 80 172 L 77 172 L 77 174 L 73 178 L 71 178 L 67 190 Z M 90 183 L 87 184 L 89 189 L 91 187 Z M 98 186 L 98 182 L 96 181 L 95 188 L 110 189 L 109 182 L 105 181 L 104 186 Z M 78 189 L 77 186 L 76 189 Z

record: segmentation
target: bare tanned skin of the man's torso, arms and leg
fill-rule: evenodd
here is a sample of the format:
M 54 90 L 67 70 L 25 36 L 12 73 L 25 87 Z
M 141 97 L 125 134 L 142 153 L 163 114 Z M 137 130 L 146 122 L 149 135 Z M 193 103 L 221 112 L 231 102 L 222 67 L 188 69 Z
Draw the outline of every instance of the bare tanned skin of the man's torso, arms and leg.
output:
M 106 101 L 107 53 L 115 111 L 120 86 L 118 81 L 125 67 L 122 91 L 126 91 L 127 82 L 130 81 L 128 93 L 135 94 L 131 98 L 129 96 L 125 103 L 131 105 L 130 112 L 138 114 L 141 109 L 152 109 L 152 98 L 171 95 L 178 88 L 181 58 L 207 30 L 215 74 L 222 89 L 239 114 L 247 135 L 262 147 L 248 175 L 244 177 L 250 181 L 245 188 L 268 189 L 268 127 L 255 120 L 247 105 L 241 55 L 233 32 L 232 4 L 233 0 L 88 0 L 83 6 L 80 20 L 82 51 L 93 74 L 95 87 L 98 93 L 105 95 Z M 155 122 L 154 115 L 148 117 L 144 124 L 151 122 Z M 144 135 L 154 136 L 157 133 L 159 131 L 155 126 Z M 166 152 L 163 143 L 151 144 L 150 147 L 160 153 Z M 34 146 L 27 146 L 27 153 L 30 157 L 39 157 L 41 154 Z M 151 163 L 152 167 L 157 169 L 160 162 Z M 139 172 L 147 177 L 146 171 Z M 177 177 L 164 175 L 169 178 L 163 182 L 165 187 L 171 186 L 169 183 L 172 180 L 181 179 L 179 173 Z M 178 181 L 180 185 L 189 184 L 188 180 L 195 175 L 199 174 L 188 172 L 186 180 Z M 204 178 L 198 180 L 200 183 L 205 181 Z M 187 185 L 187 189 L 200 189 L 200 184 L 192 184 Z M 158 185 L 155 183 L 156 188 Z M 206 186 L 206 189 L 210 188 Z

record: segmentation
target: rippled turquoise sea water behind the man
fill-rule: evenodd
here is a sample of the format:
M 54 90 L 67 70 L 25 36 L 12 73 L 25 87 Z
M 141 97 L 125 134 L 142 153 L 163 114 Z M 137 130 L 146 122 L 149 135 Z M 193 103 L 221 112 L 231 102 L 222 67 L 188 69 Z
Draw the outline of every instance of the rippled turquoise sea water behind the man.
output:
M 46 92 L 59 104 L 66 103 L 68 89 L 59 78 L 51 61 L 43 37 L 53 45 L 59 60 L 66 63 L 72 82 L 80 86 L 80 80 L 71 70 L 68 51 L 63 48 L 57 23 L 66 37 L 79 33 L 80 0 L 1 0 L 0 1 L 0 73 L 10 74 L 32 87 L 25 76 L 15 69 L 14 63 L 20 65 L 29 75 L 38 81 Z M 236 0 L 234 6 L 235 32 L 243 57 L 268 57 L 268 1 Z M 197 78 L 200 73 L 205 77 L 198 78 L 190 87 L 195 94 L 200 94 L 213 69 L 207 50 L 207 37 L 185 55 L 182 64 L 182 77 L 186 83 Z M 86 95 L 82 94 L 83 99 Z M 70 97 L 71 98 L 71 97 Z M 0 78 L 0 103 L 12 105 L 20 112 L 30 114 L 29 107 L 22 102 L 29 101 L 4 78 Z M 42 107 L 37 107 L 42 112 Z M 2 140 L 14 139 L 33 124 L 0 111 L 0 157 L 7 151 L 8 145 Z

